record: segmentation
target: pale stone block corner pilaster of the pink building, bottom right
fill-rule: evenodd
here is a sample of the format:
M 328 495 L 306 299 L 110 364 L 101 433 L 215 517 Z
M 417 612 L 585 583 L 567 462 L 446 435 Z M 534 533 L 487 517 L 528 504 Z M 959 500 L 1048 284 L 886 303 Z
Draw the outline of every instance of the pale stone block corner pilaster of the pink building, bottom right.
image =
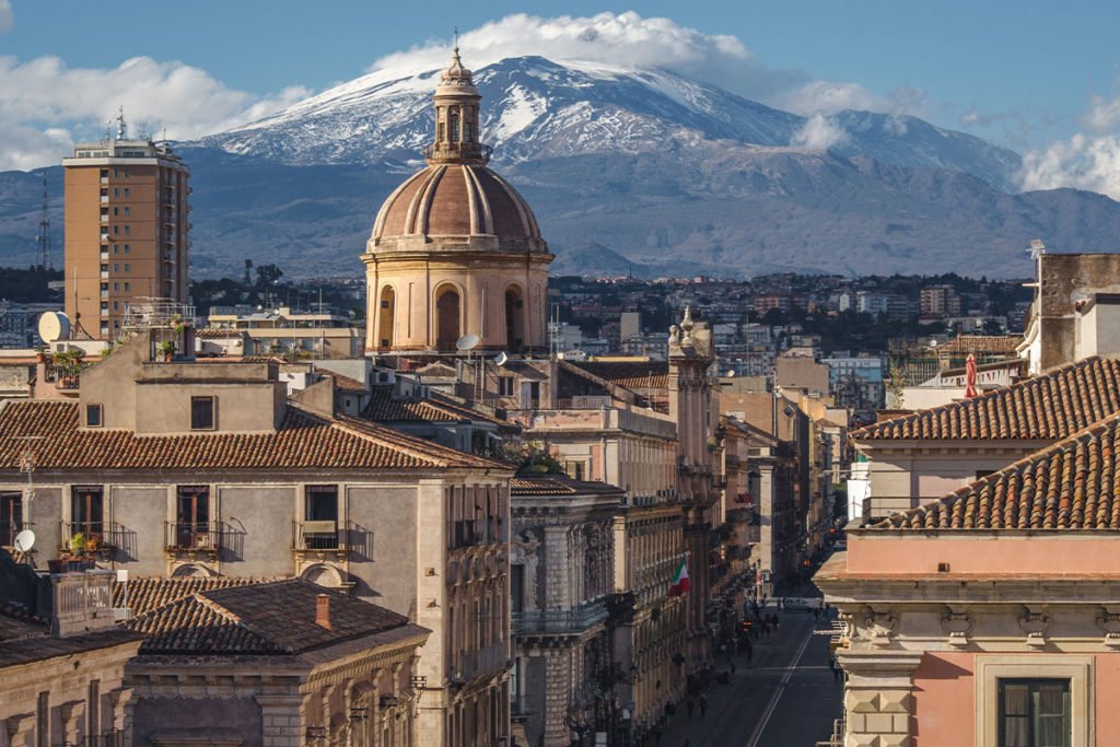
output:
M 840 654 L 848 673 L 844 747 L 911 747 L 912 675 L 922 661 L 913 651 L 853 650 Z

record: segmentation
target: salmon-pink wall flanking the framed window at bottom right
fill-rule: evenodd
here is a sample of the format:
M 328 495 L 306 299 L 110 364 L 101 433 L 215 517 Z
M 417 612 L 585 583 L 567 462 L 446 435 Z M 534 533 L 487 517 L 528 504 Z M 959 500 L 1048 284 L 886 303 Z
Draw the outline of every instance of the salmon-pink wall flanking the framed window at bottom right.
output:
M 937 652 L 922 656 L 914 671 L 911 729 L 915 747 L 976 744 L 976 653 Z M 1120 744 L 1120 653 L 1094 655 L 1096 745 Z

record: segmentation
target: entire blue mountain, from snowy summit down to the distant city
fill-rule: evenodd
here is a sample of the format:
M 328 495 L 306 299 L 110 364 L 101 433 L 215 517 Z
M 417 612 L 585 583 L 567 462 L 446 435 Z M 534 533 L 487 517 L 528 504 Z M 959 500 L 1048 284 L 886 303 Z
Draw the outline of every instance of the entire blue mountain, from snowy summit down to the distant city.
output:
M 533 205 L 557 273 L 1023 277 L 1030 239 L 1107 251 L 1120 235 L 1120 204 L 1011 194 L 1018 156 L 913 118 L 842 112 L 841 137 L 814 150 L 790 146 L 804 118 L 664 71 L 524 57 L 476 78 L 493 165 Z M 179 146 L 193 272 L 240 274 L 251 258 L 360 277 L 377 207 L 420 166 L 436 80 L 372 74 Z M 0 265 L 34 261 L 39 200 L 38 177 L 0 174 Z

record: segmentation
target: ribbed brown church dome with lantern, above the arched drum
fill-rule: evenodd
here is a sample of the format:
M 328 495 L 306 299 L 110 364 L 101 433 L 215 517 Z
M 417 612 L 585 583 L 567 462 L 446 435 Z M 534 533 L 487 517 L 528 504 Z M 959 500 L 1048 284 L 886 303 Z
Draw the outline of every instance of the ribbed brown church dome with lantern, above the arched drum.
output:
M 470 71 L 456 48 L 436 87 L 436 138 L 428 165 L 398 187 L 377 212 L 371 253 L 510 251 L 547 253 L 536 217 L 507 181 L 486 167 L 478 140 L 478 102 Z

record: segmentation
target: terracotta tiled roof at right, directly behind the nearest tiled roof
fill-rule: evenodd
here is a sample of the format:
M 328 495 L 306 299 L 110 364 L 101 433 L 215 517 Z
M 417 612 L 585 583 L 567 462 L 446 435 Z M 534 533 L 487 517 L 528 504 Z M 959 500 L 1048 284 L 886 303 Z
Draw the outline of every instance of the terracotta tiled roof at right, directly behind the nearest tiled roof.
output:
M 1116 412 L 1120 412 L 1120 362 L 1092 357 L 971 400 L 860 428 L 852 438 L 1057 440 Z

